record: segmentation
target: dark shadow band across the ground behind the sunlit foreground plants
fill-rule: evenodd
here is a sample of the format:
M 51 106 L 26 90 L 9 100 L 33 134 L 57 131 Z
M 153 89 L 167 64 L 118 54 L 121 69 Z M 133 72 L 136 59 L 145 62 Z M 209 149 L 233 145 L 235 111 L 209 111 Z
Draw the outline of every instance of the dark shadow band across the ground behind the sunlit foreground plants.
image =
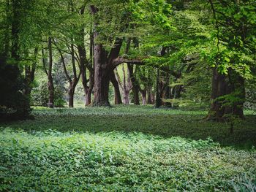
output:
M 236 123 L 234 134 L 228 123 L 204 121 L 203 115 L 36 115 L 35 120 L 1 123 L 1 128 L 26 131 L 141 132 L 161 137 L 207 139 L 223 146 L 249 149 L 256 146 L 256 117 Z

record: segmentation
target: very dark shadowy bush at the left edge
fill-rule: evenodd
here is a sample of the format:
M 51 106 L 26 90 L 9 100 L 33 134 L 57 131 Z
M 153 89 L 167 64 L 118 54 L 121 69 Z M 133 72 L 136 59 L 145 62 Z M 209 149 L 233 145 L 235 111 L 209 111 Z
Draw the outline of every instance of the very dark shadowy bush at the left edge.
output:
M 1 57 L 0 120 L 18 120 L 29 117 L 29 98 L 24 94 L 25 86 L 18 66 L 6 64 L 5 59 Z

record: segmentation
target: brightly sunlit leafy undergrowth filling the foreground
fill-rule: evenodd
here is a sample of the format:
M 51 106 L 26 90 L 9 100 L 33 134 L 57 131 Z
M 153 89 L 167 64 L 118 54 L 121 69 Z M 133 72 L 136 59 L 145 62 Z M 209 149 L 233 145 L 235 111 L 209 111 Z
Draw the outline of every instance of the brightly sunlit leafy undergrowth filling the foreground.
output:
M 0 145 L 0 191 L 255 188 L 255 150 L 222 148 L 211 139 L 5 128 Z

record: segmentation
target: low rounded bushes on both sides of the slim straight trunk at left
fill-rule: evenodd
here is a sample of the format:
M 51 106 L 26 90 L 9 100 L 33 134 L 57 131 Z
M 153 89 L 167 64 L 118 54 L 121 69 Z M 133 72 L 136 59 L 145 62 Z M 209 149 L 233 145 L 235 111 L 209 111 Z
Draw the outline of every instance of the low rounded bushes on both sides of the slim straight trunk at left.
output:
M 31 104 L 34 106 L 48 106 L 48 84 L 47 82 L 41 82 L 38 87 L 33 88 L 31 91 Z M 66 101 L 64 100 L 64 93 L 61 88 L 56 86 L 54 89 L 54 106 L 55 107 L 64 107 Z

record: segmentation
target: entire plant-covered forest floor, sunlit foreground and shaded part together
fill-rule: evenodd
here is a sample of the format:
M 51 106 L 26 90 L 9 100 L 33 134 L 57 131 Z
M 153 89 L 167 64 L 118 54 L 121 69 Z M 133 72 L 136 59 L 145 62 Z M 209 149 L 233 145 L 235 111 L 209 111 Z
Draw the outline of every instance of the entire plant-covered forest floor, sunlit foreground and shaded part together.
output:
M 0 191 L 256 190 L 256 115 L 234 133 L 204 111 L 35 108 L 0 123 Z

